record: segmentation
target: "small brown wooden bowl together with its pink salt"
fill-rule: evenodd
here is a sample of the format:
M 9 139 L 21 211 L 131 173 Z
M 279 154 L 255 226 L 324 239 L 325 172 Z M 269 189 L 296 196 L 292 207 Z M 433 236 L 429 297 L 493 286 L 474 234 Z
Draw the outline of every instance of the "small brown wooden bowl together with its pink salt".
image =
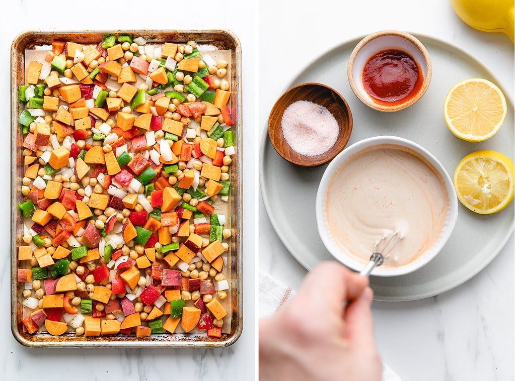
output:
M 290 88 L 273 105 L 268 136 L 285 160 L 316 167 L 332 160 L 349 141 L 352 114 L 336 90 L 320 83 Z

